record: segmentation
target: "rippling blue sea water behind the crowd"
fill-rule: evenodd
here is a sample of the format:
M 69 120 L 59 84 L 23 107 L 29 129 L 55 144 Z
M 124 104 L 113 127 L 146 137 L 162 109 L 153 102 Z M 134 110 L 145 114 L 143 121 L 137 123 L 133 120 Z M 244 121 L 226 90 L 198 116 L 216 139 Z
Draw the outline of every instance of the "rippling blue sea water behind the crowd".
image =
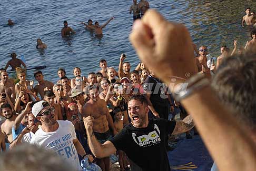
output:
M 248 6 L 256 11 L 256 1 L 196 1 L 196 0 L 152 0 L 151 8 L 156 8 L 169 21 L 185 24 L 194 43 L 206 45 L 209 53 L 220 55 L 220 46 L 233 48 L 233 39 L 238 46 L 244 46 L 250 39 L 249 28 L 241 27 L 244 9 Z M 107 59 L 109 66 L 116 69 L 120 54 L 125 53 L 132 69 L 139 63 L 130 41 L 129 33 L 133 23 L 129 7 L 132 1 L 100 0 L 1 0 L 0 1 L 0 67 L 4 67 L 9 53 L 24 55 L 28 67 L 46 65 L 45 79 L 56 83 L 57 68 L 66 69 L 68 77 L 73 77 L 73 68 L 80 67 L 82 74 L 99 71 L 99 60 Z M 111 16 L 115 19 L 104 28 L 104 36 L 99 39 L 84 29 L 81 21 L 99 21 L 104 24 Z M 16 23 L 6 26 L 11 18 Z M 63 21 L 68 21 L 76 34 L 69 39 L 61 37 Z M 41 38 L 48 48 L 36 49 L 36 39 Z M 177 49 L 185 51 L 186 49 Z M 28 72 L 28 79 L 33 72 Z

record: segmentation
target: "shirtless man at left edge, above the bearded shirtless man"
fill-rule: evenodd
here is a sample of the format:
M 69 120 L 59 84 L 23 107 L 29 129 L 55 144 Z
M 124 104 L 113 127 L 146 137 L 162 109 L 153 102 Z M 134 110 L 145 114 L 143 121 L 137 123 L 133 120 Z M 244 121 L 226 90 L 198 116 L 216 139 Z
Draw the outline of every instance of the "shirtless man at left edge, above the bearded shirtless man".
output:
M 5 71 L 0 71 L 0 93 L 7 93 L 8 97 L 14 103 L 15 99 L 15 86 L 13 81 L 8 78 L 8 73 Z

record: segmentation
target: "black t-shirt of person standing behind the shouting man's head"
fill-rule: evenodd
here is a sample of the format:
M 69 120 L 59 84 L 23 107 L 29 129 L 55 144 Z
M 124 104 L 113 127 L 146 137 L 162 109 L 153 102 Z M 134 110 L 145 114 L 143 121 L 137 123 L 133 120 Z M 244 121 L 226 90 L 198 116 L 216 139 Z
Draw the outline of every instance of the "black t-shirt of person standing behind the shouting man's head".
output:
M 162 106 L 168 106 L 168 96 L 164 92 L 164 84 L 151 75 L 147 76 L 143 82 L 144 92 L 150 93 L 150 101 L 154 108 L 160 108 Z

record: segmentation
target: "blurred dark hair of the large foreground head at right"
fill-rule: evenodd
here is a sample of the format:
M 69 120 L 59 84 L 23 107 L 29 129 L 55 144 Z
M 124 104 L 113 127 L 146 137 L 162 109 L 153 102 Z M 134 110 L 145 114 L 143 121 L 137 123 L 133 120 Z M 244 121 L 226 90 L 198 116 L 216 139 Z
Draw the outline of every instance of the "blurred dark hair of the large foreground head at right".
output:
M 223 105 L 252 129 L 256 128 L 255 55 L 247 53 L 224 58 L 211 83 Z

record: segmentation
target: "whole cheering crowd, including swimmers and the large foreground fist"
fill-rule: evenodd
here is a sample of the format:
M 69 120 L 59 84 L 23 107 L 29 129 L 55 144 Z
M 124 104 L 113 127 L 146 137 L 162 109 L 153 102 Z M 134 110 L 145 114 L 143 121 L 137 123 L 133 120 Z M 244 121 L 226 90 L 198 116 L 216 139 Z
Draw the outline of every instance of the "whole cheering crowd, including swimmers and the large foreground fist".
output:
M 58 68 L 56 83 L 35 71 L 35 84 L 26 79 L 26 65 L 11 54 L 0 69 L 0 149 L 32 144 L 55 152 L 73 170 L 82 170 L 84 158 L 110 170 L 112 154 L 119 156 L 121 170 L 171 170 L 168 135 L 190 135 L 196 125 L 215 160 L 215 170 L 253 170 L 256 30 L 245 47 L 238 48 L 236 40 L 232 52 L 222 46 L 215 64 L 207 58 L 206 46 L 198 49 L 192 43 L 185 26 L 166 21 L 154 10 L 145 13 L 147 1 L 133 3 L 130 40 L 141 59 L 133 71 L 129 57 L 121 54 L 117 70 L 101 59 L 99 71 L 87 77 L 78 67 L 73 78 Z M 244 21 L 253 25 L 255 16 L 250 8 L 245 12 L 242 25 Z M 82 24 L 102 35 L 112 19 L 102 26 L 93 25 L 91 19 Z M 64 21 L 62 36 L 72 33 Z M 46 47 L 37 39 L 36 48 Z M 9 65 L 16 71 L 17 83 L 8 77 Z M 180 120 L 174 119 L 176 109 L 184 115 Z

